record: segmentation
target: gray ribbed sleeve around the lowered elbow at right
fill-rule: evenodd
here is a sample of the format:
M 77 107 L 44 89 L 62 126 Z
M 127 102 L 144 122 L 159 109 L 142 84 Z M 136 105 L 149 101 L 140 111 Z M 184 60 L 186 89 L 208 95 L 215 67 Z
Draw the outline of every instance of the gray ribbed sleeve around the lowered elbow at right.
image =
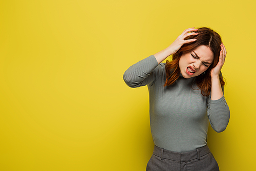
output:
M 230 111 L 225 97 L 222 96 L 218 100 L 211 100 L 209 96 L 207 101 L 207 115 L 212 129 L 218 133 L 223 132 L 226 129 L 230 118 Z

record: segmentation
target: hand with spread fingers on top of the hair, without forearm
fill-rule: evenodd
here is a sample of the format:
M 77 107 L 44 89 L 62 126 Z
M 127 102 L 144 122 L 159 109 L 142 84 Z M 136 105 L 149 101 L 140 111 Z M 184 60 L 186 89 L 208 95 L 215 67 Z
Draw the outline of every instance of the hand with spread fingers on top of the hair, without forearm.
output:
M 191 35 L 198 35 L 196 32 L 191 32 L 191 31 L 197 31 L 198 29 L 193 28 L 188 28 L 184 30 L 181 35 L 179 35 L 176 40 L 168 47 L 170 53 L 175 54 L 178 52 L 178 50 L 182 47 L 182 45 L 187 44 L 192 41 L 196 41 L 197 39 L 187 39 L 184 40 L 186 37 L 191 36 Z M 191 33 L 189 33 L 191 32 Z

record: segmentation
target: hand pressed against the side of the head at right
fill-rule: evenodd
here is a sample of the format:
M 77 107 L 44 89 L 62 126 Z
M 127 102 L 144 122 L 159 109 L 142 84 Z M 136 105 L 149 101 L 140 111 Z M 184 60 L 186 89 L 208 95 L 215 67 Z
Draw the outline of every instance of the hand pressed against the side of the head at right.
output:
M 217 66 L 213 69 L 211 69 L 210 71 L 210 76 L 211 77 L 219 77 L 220 72 L 221 72 L 221 68 L 224 65 L 225 62 L 225 58 L 227 55 L 227 51 L 225 46 L 223 45 L 223 42 L 221 43 L 221 52 L 220 52 L 220 58 L 219 58 L 219 62 L 217 63 Z

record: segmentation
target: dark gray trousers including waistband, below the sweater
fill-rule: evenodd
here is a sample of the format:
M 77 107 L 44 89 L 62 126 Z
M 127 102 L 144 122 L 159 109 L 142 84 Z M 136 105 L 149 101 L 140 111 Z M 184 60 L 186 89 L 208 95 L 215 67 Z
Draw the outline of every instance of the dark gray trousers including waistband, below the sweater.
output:
M 155 145 L 146 171 L 218 171 L 219 166 L 207 145 L 186 153 L 171 152 Z

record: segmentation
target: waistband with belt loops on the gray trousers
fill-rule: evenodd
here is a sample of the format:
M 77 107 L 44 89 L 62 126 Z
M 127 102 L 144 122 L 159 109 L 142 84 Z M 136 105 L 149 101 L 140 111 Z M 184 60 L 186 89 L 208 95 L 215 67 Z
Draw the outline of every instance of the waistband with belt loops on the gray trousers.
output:
M 168 151 L 167 149 L 163 149 L 155 145 L 153 151 L 153 154 L 158 157 L 161 157 L 161 160 L 169 159 L 174 161 L 189 161 L 194 159 L 200 160 L 200 157 L 208 153 L 210 153 L 210 149 L 207 145 L 197 148 L 194 151 L 185 153 Z

